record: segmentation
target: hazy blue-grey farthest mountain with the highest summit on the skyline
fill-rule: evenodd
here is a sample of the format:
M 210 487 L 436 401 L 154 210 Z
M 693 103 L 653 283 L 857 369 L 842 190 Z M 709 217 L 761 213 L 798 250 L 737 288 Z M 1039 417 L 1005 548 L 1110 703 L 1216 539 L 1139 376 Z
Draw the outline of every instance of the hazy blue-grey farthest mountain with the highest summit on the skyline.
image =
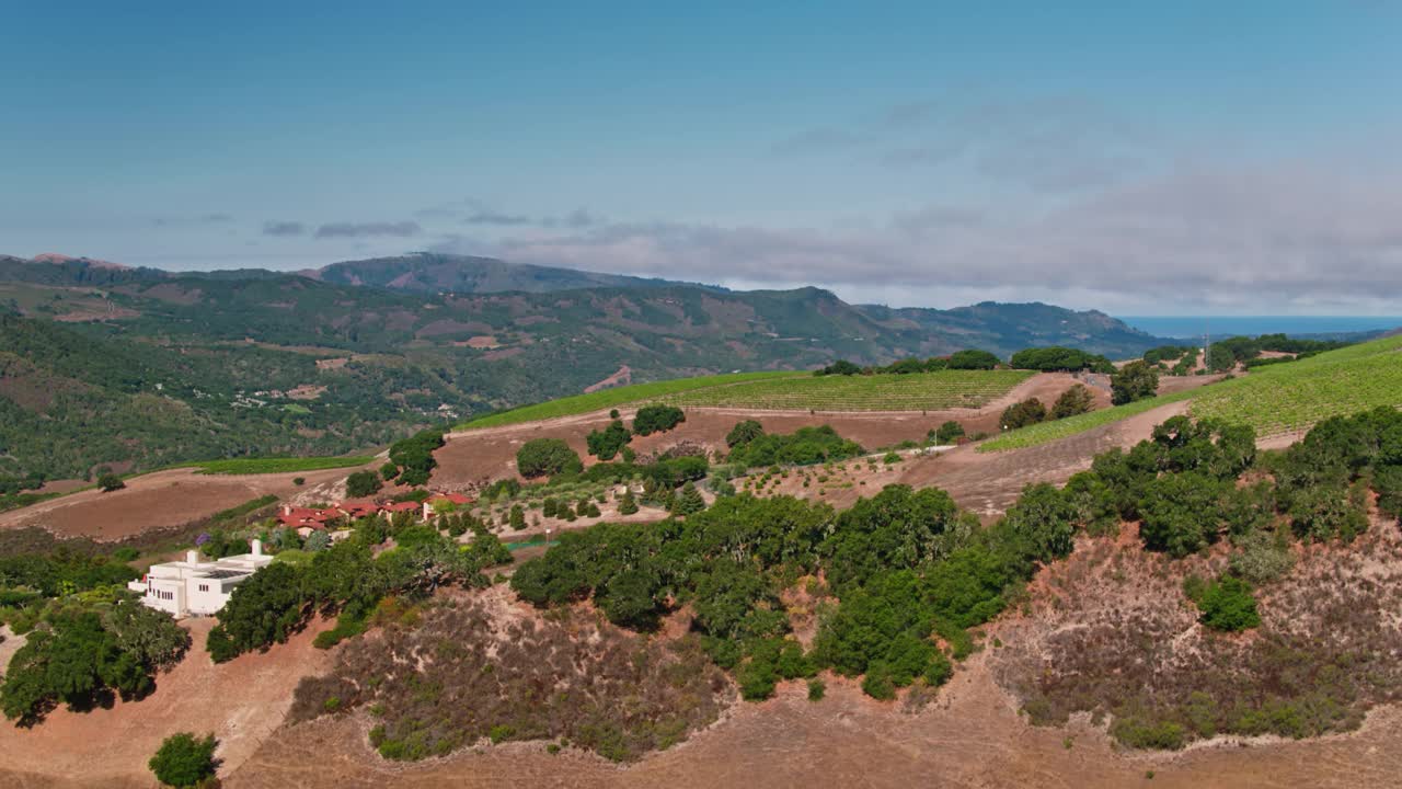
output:
M 620 274 L 597 274 L 506 263 L 491 257 L 414 253 L 401 257 L 349 260 L 304 272 L 341 285 L 367 285 L 412 293 L 548 293 L 580 288 L 660 288 L 680 285 Z

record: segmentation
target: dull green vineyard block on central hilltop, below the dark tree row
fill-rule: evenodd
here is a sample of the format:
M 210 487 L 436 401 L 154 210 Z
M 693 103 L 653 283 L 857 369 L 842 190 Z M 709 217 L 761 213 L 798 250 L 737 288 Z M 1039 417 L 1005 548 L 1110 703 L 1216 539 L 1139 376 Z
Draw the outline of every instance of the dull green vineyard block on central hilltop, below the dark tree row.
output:
M 1035 375 L 1028 371 L 941 371 L 754 380 L 660 397 L 691 407 L 788 411 L 921 411 L 979 409 Z

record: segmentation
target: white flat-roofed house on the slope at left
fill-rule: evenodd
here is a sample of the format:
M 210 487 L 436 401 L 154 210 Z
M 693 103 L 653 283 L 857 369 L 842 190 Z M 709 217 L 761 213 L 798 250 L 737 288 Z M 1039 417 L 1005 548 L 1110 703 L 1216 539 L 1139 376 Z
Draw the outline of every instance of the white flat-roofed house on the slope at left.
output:
M 200 562 L 199 553 L 189 550 L 184 562 L 151 564 L 140 581 L 130 581 L 126 588 L 171 616 L 210 615 L 229 602 L 234 587 L 268 564 L 272 556 L 264 556 L 262 541 L 255 539 L 252 553 Z

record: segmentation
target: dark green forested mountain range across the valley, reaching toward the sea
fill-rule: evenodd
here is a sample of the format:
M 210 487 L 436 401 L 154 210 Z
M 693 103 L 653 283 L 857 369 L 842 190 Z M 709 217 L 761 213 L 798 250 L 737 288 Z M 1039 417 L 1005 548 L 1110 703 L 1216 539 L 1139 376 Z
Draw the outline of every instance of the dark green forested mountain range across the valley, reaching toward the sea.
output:
M 310 272 L 4 256 L 0 305 L 0 470 L 48 477 L 345 452 L 606 379 L 1158 344 L 1040 303 L 889 309 L 428 253 Z

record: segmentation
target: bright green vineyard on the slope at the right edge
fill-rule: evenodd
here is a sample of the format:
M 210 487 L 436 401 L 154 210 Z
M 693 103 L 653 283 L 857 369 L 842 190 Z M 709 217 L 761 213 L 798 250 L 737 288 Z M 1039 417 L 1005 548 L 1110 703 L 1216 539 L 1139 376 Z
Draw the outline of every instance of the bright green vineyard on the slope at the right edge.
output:
M 979 449 L 994 452 L 1047 444 L 1150 409 L 1192 400 L 1195 417 L 1249 424 L 1256 435 L 1279 435 L 1328 417 L 1378 406 L 1402 406 L 1402 337 L 1387 337 L 1280 365 L 1242 378 L 1162 394 L 1126 406 L 1011 431 Z

